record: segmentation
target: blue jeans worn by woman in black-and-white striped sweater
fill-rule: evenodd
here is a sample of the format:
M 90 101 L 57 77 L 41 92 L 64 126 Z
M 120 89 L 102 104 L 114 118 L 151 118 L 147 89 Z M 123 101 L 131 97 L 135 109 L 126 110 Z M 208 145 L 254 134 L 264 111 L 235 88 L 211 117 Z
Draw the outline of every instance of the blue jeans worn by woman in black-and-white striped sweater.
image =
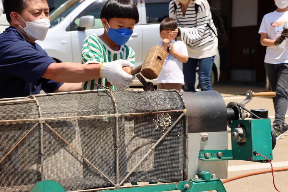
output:
M 210 76 L 214 62 L 213 57 L 202 59 L 189 58 L 187 63 L 183 63 L 184 91 L 195 91 L 196 68 L 199 63 L 199 87 L 202 91 L 212 90 Z

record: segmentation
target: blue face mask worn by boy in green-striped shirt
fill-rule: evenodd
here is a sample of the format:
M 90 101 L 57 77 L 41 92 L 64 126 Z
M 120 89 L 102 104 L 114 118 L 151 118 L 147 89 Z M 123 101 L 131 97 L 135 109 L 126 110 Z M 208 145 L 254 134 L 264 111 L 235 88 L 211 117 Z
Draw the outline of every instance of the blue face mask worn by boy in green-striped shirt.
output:
M 108 26 L 109 23 L 107 22 Z M 106 29 L 106 28 L 105 28 Z M 106 29 L 107 31 L 107 29 Z M 108 37 L 117 45 L 121 46 L 127 43 L 129 38 L 131 37 L 133 31 L 128 28 L 120 28 L 120 29 L 112 29 L 109 26 L 109 31 L 107 31 Z

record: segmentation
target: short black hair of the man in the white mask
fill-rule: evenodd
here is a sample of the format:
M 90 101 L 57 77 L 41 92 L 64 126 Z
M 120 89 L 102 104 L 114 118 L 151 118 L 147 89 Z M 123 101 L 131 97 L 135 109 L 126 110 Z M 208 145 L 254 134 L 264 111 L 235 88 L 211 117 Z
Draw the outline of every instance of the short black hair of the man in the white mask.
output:
M 0 0 L 1 1 L 1 0 Z M 6 19 L 10 23 L 12 21 L 10 14 L 15 11 L 18 14 L 22 14 L 23 9 L 27 8 L 27 1 L 29 0 L 4 0 L 3 7 L 6 14 Z M 47 1 L 47 0 L 42 0 Z

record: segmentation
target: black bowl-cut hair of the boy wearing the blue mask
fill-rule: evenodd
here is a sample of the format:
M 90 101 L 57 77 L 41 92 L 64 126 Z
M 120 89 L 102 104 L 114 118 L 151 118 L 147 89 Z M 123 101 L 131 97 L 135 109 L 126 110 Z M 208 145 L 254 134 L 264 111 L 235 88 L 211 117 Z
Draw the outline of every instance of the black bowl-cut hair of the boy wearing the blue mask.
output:
M 109 22 L 110 18 L 129 18 L 139 22 L 139 13 L 137 6 L 133 0 L 108 0 L 100 14 L 100 18 L 106 18 Z

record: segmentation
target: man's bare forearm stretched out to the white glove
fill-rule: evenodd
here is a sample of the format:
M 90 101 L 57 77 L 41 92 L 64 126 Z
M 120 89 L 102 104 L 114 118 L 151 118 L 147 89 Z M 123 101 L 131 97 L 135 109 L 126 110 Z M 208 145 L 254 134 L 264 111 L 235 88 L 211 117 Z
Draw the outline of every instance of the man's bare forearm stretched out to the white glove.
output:
M 41 77 L 57 82 L 85 82 L 100 78 L 100 66 L 101 65 L 96 63 L 90 63 L 90 65 L 71 62 L 51 63 Z

